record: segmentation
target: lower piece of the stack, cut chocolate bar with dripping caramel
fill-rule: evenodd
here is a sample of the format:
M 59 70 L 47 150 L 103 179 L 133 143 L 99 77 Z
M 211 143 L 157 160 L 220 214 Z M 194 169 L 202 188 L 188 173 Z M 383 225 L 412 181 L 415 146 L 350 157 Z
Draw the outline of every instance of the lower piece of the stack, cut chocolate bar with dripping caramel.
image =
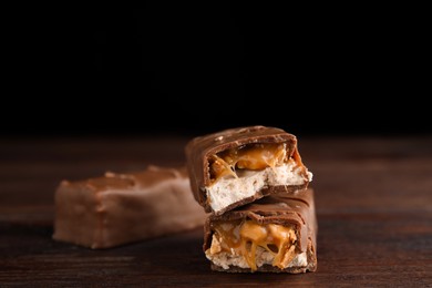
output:
M 308 188 L 212 214 L 203 248 L 217 271 L 315 271 L 317 229 L 313 191 Z

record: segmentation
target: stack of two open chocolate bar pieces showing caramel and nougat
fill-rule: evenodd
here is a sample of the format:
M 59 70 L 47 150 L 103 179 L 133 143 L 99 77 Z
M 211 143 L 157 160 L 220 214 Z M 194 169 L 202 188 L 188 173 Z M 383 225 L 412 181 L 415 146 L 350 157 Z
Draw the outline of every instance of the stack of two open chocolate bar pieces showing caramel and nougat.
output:
M 312 174 L 295 135 L 238 127 L 193 138 L 185 153 L 194 197 L 210 213 L 203 248 L 213 270 L 317 269 Z

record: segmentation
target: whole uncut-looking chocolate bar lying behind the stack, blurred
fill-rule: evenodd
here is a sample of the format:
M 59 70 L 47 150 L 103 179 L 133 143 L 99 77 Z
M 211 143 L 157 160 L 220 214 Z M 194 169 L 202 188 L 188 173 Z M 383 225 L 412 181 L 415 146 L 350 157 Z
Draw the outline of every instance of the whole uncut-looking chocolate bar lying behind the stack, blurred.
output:
M 185 167 L 148 166 L 63 181 L 55 191 L 53 239 L 109 248 L 202 227 L 205 218 Z

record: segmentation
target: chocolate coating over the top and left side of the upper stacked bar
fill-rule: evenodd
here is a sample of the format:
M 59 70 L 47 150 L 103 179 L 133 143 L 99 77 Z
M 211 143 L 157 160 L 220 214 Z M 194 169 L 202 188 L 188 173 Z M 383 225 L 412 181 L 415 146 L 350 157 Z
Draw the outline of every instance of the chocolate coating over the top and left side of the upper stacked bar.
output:
M 248 126 L 195 137 L 185 147 L 187 171 L 195 199 L 207 207 L 205 187 L 210 185 L 208 160 L 222 151 L 251 143 L 286 143 L 288 155 L 297 152 L 297 137 L 277 127 Z

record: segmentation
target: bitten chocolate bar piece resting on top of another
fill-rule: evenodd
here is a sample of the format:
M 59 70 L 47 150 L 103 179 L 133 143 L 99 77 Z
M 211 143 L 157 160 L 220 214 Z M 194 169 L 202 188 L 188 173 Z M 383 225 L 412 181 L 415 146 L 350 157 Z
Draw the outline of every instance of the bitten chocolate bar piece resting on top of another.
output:
M 220 215 L 275 193 L 307 188 L 297 137 L 277 127 L 249 126 L 195 137 L 185 147 L 195 199 Z

